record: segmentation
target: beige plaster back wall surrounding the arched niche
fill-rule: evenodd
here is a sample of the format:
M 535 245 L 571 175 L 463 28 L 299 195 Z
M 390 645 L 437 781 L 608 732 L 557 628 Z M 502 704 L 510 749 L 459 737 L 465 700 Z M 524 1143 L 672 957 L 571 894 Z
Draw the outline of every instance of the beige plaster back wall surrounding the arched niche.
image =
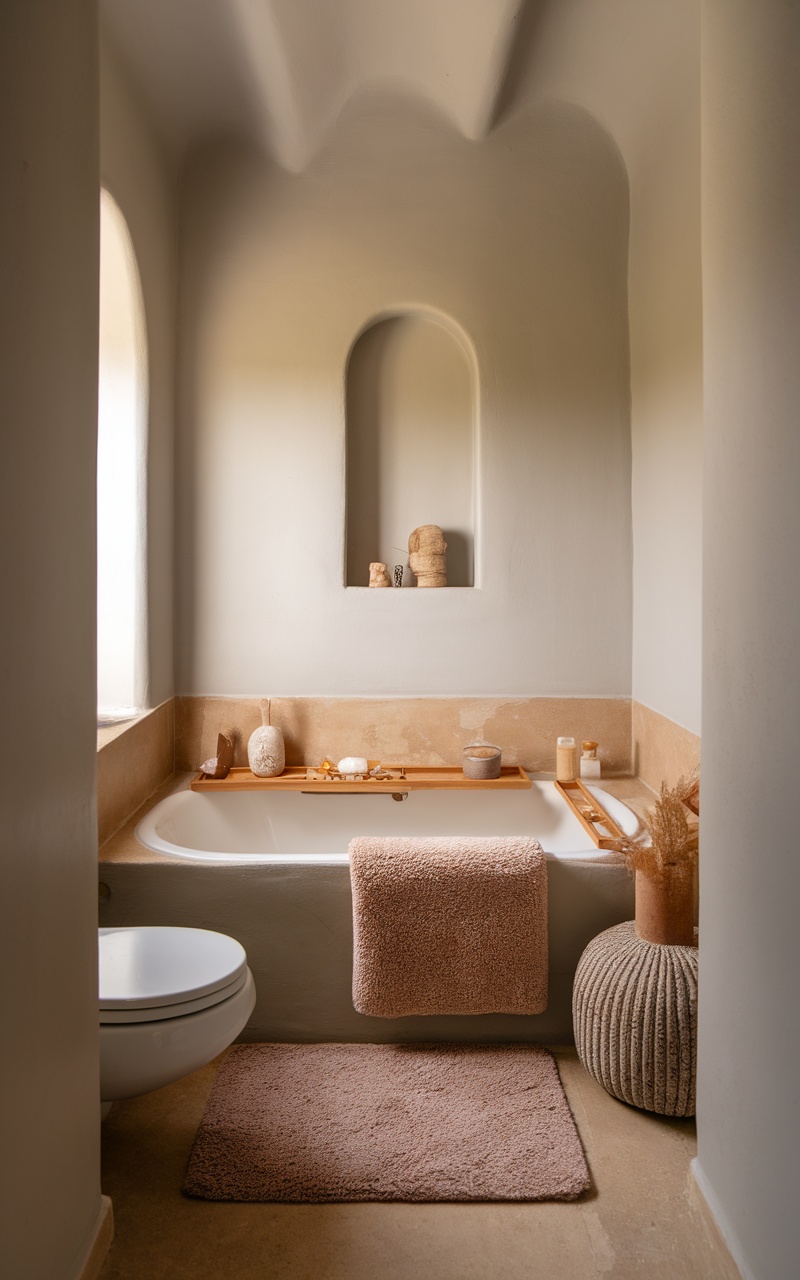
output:
M 300 175 L 197 155 L 183 209 L 179 691 L 626 696 L 627 184 L 608 136 L 543 105 L 475 143 L 362 93 Z M 475 348 L 480 589 L 342 585 L 347 356 L 403 307 Z

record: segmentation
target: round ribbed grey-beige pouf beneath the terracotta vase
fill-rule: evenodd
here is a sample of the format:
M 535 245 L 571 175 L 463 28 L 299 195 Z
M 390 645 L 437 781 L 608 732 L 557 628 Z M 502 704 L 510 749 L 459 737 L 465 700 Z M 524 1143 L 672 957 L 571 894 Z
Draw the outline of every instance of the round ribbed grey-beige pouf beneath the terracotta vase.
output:
M 616 1098 L 695 1114 L 696 947 L 645 942 L 632 920 L 605 929 L 579 961 L 572 1024 L 577 1056 Z

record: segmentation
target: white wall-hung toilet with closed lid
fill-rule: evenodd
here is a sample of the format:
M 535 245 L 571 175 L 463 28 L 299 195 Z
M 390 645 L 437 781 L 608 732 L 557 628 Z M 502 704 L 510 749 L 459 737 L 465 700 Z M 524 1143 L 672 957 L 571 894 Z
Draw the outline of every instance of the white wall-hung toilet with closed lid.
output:
M 220 1053 L 244 1028 L 256 987 L 224 933 L 170 927 L 99 931 L 100 1097 L 160 1089 Z

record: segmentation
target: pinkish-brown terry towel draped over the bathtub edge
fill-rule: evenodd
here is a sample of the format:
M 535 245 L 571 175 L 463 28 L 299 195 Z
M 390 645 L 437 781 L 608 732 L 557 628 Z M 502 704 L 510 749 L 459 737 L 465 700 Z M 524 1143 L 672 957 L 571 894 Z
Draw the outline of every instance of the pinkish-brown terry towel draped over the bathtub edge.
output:
M 360 1014 L 540 1014 L 548 882 L 538 840 L 380 838 L 349 845 Z

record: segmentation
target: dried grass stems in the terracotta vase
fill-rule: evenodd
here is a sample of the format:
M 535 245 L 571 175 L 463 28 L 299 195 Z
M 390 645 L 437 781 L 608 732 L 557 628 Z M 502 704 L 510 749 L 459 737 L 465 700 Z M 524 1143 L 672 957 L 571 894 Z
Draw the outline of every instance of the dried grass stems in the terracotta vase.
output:
M 617 841 L 634 872 L 652 879 L 666 881 L 675 876 L 692 876 L 698 863 L 698 827 L 689 824 L 686 804 L 696 801 L 700 790 L 699 768 L 678 778 L 673 787 L 662 782 L 660 796 L 641 815 L 641 831 Z

